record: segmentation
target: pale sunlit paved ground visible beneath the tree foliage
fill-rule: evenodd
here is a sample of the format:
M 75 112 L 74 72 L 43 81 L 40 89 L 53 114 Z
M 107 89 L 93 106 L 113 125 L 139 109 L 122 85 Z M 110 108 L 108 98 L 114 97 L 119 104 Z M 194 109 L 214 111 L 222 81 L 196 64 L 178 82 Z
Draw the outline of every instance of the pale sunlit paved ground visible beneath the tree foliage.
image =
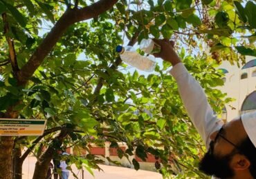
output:
M 28 157 L 24 161 L 23 165 L 23 179 L 31 179 L 33 177 L 33 172 L 35 169 L 35 157 Z M 159 173 L 153 171 L 144 171 L 135 169 L 128 169 L 125 167 L 113 167 L 109 165 L 99 165 L 103 171 L 93 170 L 94 177 L 88 171 L 84 171 L 84 179 L 161 179 L 162 176 Z M 77 170 L 74 165 L 72 165 L 72 170 L 77 174 L 77 177 L 82 179 L 82 171 Z M 73 179 L 74 177 L 70 173 L 68 179 Z M 39 178 L 41 179 L 41 178 Z

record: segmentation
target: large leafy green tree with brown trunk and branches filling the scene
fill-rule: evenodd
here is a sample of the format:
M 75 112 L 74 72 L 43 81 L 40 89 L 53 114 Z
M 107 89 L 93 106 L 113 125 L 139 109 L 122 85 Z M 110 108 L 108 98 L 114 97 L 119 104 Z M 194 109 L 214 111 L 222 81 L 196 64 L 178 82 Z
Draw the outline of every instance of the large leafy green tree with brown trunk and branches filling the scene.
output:
M 132 151 L 143 160 L 147 154 L 161 158 L 158 170 L 164 176 L 202 176 L 194 163 L 203 144 L 176 84 L 164 73 L 169 64 L 148 76 L 124 72 L 127 65 L 115 48 L 123 43 L 122 33 L 128 45 L 172 37 L 188 70 L 221 112 L 230 99 L 214 89 L 223 84 L 214 67 L 256 56 L 255 8 L 252 1 L 0 0 L 1 116 L 48 121 L 43 136 L 1 137 L 0 178 L 12 178 L 12 173 L 21 178 L 22 162 L 31 151 L 38 158 L 33 178 L 44 178 L 64 143 L 86 149 L 106 140 L 117 148 L 117 142 L 127 143 L 127 151 L 118 150 L 120 158 Z M 203 48 L 209 52 L 200 52 Z M 42 145 L 46 151 L 41 154 Z M 21 155 L 23 147 L 28 150 Z M 71 156 L 71 162 L 90 170 L 100 161 L 89 154 Z M 136 160 L 131 162 L 139 168 Z

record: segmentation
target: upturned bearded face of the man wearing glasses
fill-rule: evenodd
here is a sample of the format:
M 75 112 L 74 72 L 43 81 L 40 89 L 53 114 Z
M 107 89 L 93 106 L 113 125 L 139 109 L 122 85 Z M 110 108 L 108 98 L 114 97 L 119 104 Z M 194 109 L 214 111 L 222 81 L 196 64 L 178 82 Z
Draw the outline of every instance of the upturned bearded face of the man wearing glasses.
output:
M 237 154 L 235 145 L 244 138 L 244 135 L 246 132 L 243 130 L 241 120 L 232 120 L 223 125 L 221 131 L 211 134 L 210 148 L 203 156 L 199 169 L 218 178 L 233 178 L 235 172 L 230 163 L 233 156 Z

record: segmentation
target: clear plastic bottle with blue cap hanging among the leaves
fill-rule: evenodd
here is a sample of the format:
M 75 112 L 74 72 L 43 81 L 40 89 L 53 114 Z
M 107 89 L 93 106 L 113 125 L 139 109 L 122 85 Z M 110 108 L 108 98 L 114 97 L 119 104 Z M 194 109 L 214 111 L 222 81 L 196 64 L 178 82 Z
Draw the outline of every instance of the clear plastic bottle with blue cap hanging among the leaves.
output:
M 152 72 L 156 67 L 156 61 L 154 56 L 142 56 L 136 52 L 136 49 L 132 46 L 122 47 L 118 45 L 116 47 L 116 52 L 120 53 L 120 58 L 125 63 L 143 70 L 145 72 Z

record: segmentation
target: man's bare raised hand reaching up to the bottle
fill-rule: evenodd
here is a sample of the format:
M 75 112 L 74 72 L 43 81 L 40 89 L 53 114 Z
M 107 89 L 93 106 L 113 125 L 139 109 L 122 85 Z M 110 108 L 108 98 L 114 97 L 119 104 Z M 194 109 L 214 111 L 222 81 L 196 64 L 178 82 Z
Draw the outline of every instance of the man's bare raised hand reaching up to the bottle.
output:
M 174 50 L 174 41 L 169 41 L 167 39 L 153 39 L 154 42 L 161 46 L 161 52 L 154 53 L 155 57 L 160 57 L 164 61 L 169 61 L 172 65 L 181 63 L 181 59 Z

